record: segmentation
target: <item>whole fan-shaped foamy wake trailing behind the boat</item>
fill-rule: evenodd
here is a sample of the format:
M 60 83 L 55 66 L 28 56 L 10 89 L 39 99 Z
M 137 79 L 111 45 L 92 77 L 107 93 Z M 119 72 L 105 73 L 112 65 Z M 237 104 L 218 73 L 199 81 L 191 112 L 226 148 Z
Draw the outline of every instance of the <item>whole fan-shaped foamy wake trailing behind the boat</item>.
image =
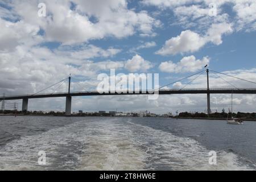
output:
M 46 151 L 46 166 L 38 152 Z M 191 138 L 135 124 L 125 119 L 80 121 L 0 148 L 2 170 L 243 170 L 237 155 L 217 151 L 217 165 L 208 163 L 209 150 Z

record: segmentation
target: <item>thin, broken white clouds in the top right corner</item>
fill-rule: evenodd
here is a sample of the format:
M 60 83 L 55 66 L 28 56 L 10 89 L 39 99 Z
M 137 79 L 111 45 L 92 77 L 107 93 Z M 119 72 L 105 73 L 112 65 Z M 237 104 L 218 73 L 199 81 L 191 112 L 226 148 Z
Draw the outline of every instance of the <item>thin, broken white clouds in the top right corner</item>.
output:
M 160 9 L 171 9 L 176 17 L 174 24 L 180 24 L 183 27 L 194 27 L 201 30 L 209 27 L 212 23 L 223 23 L 231 20 L 235 24 L 237 31 L 255 31 L 256 30 L 256 2 L 254 0 L 143 0 L 147 6 L 156 6 Z M 209 16 L 210 3 L 215 3 L 217 7 L 217 16 Z M 229 6 L 233 10 L 234 18 L 225 13 L 225 7 Z

